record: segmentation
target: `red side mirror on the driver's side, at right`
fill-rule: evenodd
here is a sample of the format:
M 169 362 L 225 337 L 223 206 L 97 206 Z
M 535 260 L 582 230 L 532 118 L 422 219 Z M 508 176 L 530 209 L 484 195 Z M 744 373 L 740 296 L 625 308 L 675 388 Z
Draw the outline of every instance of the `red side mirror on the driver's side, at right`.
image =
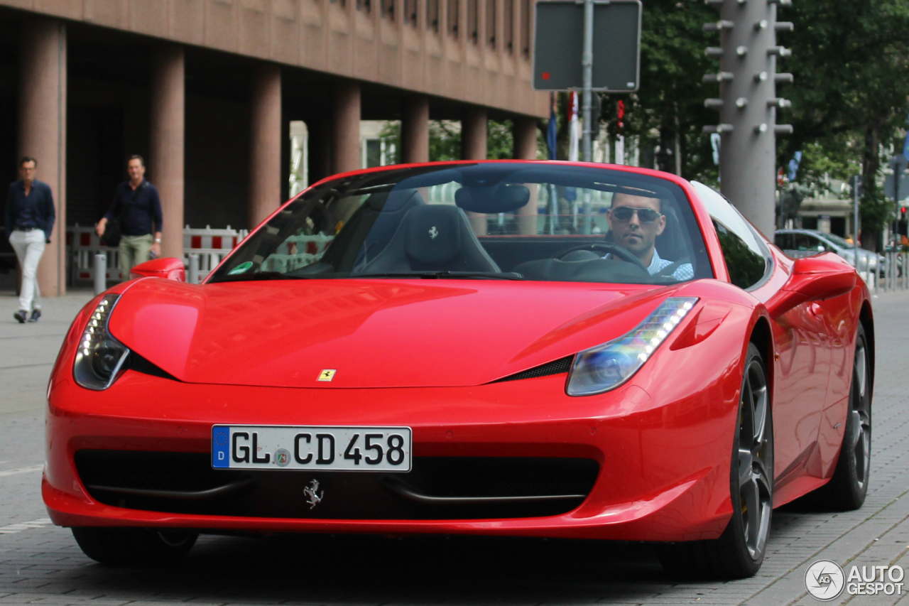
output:
M 855 288 L 857 278 L 855 268 L 834 253 L 797 258 L 783 288 L 767 301 L 767 311 L 779 318 L 806 301 L 839 297 Z

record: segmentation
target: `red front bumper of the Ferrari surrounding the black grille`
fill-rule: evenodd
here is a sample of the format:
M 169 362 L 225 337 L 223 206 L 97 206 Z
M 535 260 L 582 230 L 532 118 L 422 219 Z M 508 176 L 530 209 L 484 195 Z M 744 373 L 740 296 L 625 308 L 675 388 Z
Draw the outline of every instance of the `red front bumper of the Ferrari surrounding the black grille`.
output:
M 186 384 L 130 370 L 95 392 L 75 385 L 71 365 L 63 363 L 49 390 L 43 495 L 62 526 L 712 539 L 731 515 L 740 379 L 731 367 L 716 371 L 726 380 L 691 379 L 704 374 L 691 349 L 665 352 L 680 376 L 688 371 L 686 380 L 659 379 L 654 364 L 623 389 L 585 398 L 564 394 L 565 375 L 464 388 L 282 389 Z M 210 453 L 215 423 L 407 425 L 416 462 L 572 458 L 594 460 L 599 473 L 583 502 L 557 515 L 391 520 L 326 519 L 319 509 L 307 517 L 268 517 L 118 507 L 93 498 L 76 471 L 79 451 Z M 332 487 L 324 488 L 330 497 Z

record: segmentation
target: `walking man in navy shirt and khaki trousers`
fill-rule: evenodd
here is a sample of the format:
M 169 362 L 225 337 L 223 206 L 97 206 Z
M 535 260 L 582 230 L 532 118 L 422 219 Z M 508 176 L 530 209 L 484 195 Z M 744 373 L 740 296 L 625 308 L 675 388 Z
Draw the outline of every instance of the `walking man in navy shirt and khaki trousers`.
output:
M 149 252 L 161 256 L 161 198 L 158 189 L 145 180 L 145 160 L 131 156 L 126 163 L 129 180 L 121 183 L 114 194 L 114 203 L 98 221 L 95 231 L 104 236 L 107 221 L 120 219 L 120 268 L 129 279 L 133 266 L 145 263 Z M 153 236 L 154 234 L 154 236 Z

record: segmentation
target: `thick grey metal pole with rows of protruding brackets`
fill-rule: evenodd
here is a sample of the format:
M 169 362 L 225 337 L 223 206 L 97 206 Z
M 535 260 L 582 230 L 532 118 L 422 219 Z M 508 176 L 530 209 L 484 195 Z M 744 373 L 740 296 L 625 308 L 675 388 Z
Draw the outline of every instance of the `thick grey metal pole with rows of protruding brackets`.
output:
M 791 31 L 791 23 L 776 22 L 776 5 L 791 0 L 706 0 L 720 8 L 720 20 L 704 25 L 719 32 L 720 46 L 707 56 L 720 59 L 720 71 L 704 76 L 718 84 L 720 96 L 704 106 L 719 110 L 719 124 L 704 126 L 704 133 L 719 133 L 720 187 L 725 197 L 766 236 L 773 236 L 775 220 L 776 136 L 793 127 L 776 124 L 776 111 L 790 106 L 776 96 L 776 84 L 792 82 L 791 74 L 776 73 L 777 57 L 790 56 L 776 45 L 776 32 Z

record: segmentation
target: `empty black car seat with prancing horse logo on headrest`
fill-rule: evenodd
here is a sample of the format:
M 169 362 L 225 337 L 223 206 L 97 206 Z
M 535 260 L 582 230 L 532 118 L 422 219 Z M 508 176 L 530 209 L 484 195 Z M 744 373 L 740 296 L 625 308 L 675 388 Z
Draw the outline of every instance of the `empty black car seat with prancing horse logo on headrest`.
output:
M 438 204 L 408 210 L 388 246 L 357 273 L 409 271 L 501 272 L 464 211 Z

